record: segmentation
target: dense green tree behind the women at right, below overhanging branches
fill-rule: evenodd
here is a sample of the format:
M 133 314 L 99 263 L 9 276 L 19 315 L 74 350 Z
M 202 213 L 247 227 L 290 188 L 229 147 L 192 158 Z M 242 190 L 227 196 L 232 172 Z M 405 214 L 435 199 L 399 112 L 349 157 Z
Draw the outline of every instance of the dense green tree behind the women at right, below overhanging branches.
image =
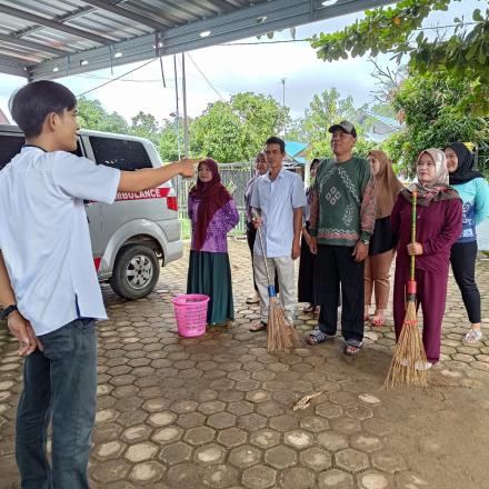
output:
M 408 77 L 392 100 L 405 121 L 405 128 L 385 143 L 392 160 L 412 174 L 413 162 L 426 148 L 442 148 L 457 140 L 473 143 L 487 140 L 489 118 L 455 109 L 470 87 L 469 81 L 447 73 Z

